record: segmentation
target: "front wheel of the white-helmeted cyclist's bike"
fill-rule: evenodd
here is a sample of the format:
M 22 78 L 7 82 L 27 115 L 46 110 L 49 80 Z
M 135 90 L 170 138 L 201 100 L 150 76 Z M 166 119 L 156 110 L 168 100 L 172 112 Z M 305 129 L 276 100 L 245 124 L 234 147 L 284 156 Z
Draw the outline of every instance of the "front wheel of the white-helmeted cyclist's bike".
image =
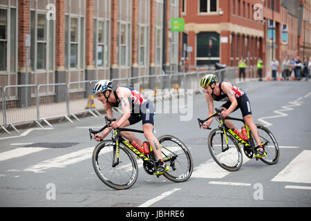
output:
M 138 178 L 138 164 L 125 146 L 120 144 L 117 162 L 116 144 L 106 140 L 95 146 L 92 156 L 95 173 L 113 189 L 128 189 Z

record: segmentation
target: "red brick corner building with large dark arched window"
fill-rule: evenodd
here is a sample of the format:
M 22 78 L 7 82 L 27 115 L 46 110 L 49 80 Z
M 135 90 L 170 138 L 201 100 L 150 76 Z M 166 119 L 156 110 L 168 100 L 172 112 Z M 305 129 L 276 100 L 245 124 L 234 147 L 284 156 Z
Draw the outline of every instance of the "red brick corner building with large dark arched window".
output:
M 310 17 L 310 1 L 307 2 L 305 18 Z M 270 66 L 272 57 L 281 61 L 283 55 L 299 53 L 298 1 L 183 0 L 182 4 L 185 39 L 193 48 L 191 66 L 216 62 L 237 66 L 241 56 L 248 66 L 256 66 L 258 57 Z M 309 24 L 305 27 L 310 28 Z M 309 46 L 305 41 L 305 51 Z

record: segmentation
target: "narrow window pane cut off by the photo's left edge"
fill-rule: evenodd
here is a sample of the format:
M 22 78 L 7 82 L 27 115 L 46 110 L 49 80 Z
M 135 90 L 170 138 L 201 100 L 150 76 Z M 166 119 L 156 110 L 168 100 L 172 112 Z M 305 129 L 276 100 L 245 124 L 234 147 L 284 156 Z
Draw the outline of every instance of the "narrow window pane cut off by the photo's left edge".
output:
M 0 9 L 0 71 L 6 70 L 6 10 Z

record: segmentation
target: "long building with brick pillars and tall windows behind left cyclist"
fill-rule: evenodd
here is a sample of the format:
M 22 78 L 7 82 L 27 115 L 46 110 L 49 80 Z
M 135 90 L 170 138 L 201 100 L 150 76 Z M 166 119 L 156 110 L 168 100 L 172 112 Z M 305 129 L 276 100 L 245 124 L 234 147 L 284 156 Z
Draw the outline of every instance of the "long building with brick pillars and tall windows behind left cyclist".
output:
M 0 0 L 0 86 L 161 74 L 164 31 L 165 66 L 177 71 L 182 34 L 170 32 L 169 21 L 180 17 L 180 6 L 180 0 Z

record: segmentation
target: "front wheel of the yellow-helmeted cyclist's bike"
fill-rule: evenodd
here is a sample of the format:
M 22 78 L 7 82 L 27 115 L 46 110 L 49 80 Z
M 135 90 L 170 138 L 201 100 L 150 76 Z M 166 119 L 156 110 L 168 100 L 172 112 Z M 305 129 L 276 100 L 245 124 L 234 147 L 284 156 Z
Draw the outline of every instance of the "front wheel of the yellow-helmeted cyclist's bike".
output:
M 227 141 L 223 130 L 214 129 L 208 138 L 209 153 L 223 169 L 237 171 L 242 166 L 243 155 L 234 137 L 227 134 Z

